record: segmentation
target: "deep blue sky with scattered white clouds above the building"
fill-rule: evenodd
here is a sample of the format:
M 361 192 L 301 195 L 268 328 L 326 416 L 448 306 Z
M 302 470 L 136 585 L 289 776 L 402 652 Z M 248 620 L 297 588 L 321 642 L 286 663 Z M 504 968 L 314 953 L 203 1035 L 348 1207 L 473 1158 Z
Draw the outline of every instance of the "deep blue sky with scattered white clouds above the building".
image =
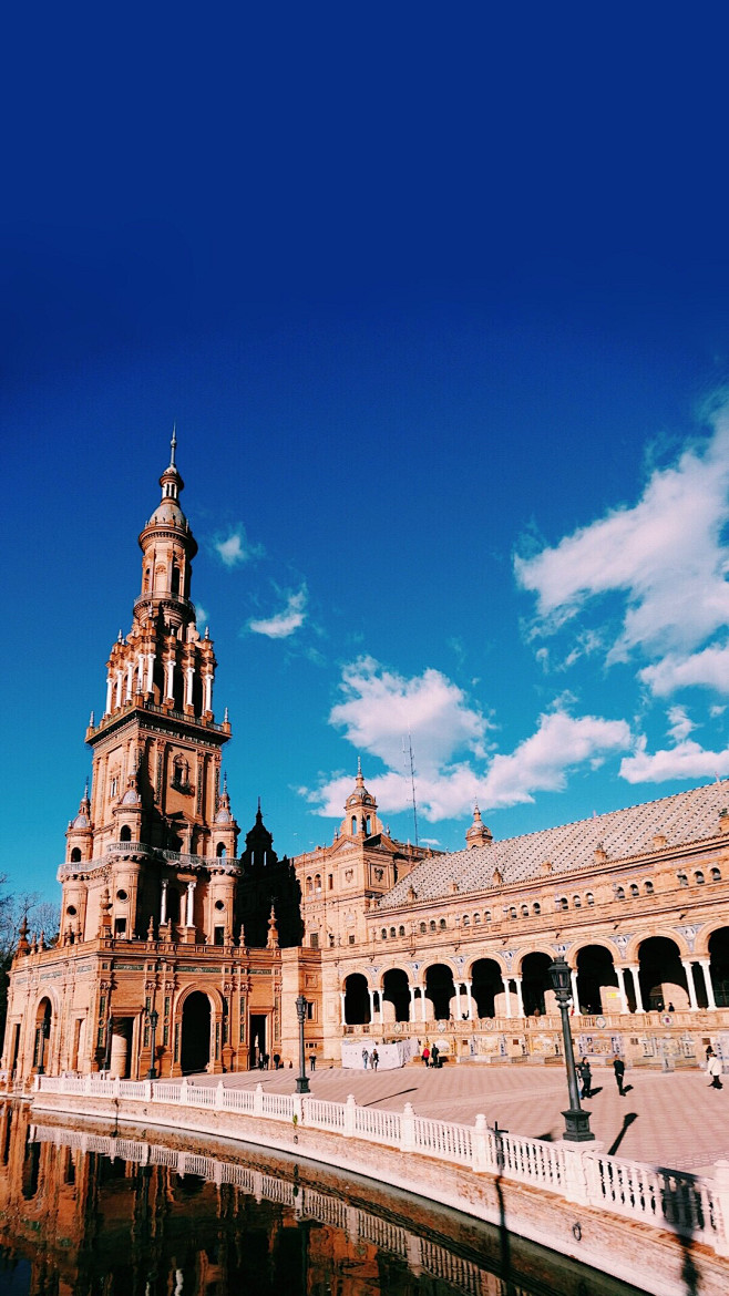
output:
M 719 9 L 26 21 L 10 885 L 54 894 L 175 420 L 244 829 L 331 840 L 361 756 L 412 837 L 409 731 L 446 849 L 729 776 Z

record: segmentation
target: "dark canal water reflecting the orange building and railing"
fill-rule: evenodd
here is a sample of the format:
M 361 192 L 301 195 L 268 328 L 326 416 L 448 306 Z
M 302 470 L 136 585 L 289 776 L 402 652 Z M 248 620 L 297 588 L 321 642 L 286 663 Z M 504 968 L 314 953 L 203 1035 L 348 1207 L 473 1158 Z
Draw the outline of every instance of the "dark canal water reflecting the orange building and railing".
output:
M 160 1135 L 163 1138 L 165 1135 Z M 13 1296 L 629 1296 L 498 1230 L 248 1148 L 235 1160 L 0 1105 L 0 1292 Z M 219 1151 L 219 1148 L 217 1148 Z M 224 1153 L 223 1153 L 224 1155 Z M 230 1153 L 233 1156 L 235 1153 Z M 358 1183 L 358 1203 L 367 1188 Z M 524 1279 L 524 1275 L 528 1275 Z M 527 1286 L 524 1286 L 527 1282 Z

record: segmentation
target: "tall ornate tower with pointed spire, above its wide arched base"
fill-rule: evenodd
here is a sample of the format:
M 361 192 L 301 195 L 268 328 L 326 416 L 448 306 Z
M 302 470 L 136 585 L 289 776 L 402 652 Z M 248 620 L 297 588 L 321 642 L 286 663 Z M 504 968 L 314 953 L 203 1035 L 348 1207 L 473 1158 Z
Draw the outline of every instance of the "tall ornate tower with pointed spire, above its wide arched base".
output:
M 86 735 L 91 797 L 69 827 L 60 872 L 65 940 L 96 933 L 106 886 L 114 937 L 141 936 L 150 921 L 188 943 L 232 933 L 237 824 L 219 794 L 231 726 L 213 712 L 217 661 L 191 601 L 197 543 L 175 448 L 173 435 L 162 498 L 139 537 L 131 629 L 112 648 L 104 714 Z

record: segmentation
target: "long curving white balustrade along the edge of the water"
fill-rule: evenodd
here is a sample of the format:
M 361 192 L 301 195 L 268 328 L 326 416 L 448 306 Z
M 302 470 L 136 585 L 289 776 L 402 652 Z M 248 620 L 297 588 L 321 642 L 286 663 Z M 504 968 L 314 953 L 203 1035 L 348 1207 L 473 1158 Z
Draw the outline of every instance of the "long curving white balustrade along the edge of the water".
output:
M 713 1179 L 704 1179 L 606 1156 L 585 1144 L 547 1143 L 505 1134 L 490 1129 L 485 1116 L 476 1116 L 472 1126 L 457 1125 L 416 1116 L 410 1103 L 402 1112 L 394 1112 L 358 1107 L 352 1095 L 346 1103 L 331 1103 L 301 1094 L 269 1094 L 261 1083 L 254 1089 L 226 1089 L 222 1081 L 192 1085 L 185 1080 L 173 1083 L 108 1080 L 96 1074 L 36 1076 L 35 1091 L 206 1108 L 328 1130 L 344 1138 L 463 1165 L 477 1174 L 529 1183 L 568 1201 L 690 1236 L 729 1255 L 728 1161 L 717 1161 Z M 192 1166 L 192 1160 L 189 1164 Z M 206 1175 L 208 1170 L 195 1173 Z

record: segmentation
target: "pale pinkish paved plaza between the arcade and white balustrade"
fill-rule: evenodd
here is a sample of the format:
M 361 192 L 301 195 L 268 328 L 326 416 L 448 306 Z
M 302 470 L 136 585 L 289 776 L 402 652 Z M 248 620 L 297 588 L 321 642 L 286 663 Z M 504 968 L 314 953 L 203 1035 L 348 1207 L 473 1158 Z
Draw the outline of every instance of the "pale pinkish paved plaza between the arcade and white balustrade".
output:
M 195 1076 L 196 1085 L 263 1085 L 270 1093 L 291 1094 L 296 1070 L 254 1070 L 230 1076 Z M 671 1169 L 710 1174 L 720 1157 L 729 1159 L 729 1077 L 723 1090 L 710 1087 L 703 1070 L 664 1074 L 628 1070 L 620 1098 L 612 1068 L 593 1069 L 594 1096 L 584 1103 L 592 1129 L 621 1157 Z M 363 1107 L 401 1111 L 412 1103 L 419 1116 L 472 1125 L 483 1112 L 511 1134 L 559 1138 L 564 1128 L 567 1078 L 562 1068 L 489 1067 L 479 1063 L 441 1070 L 410 1064 L 401 1070 L 372 1074 L 331 1068 L 310 1076 L 311 1094 L 344 1103 L 354 1094 Z

